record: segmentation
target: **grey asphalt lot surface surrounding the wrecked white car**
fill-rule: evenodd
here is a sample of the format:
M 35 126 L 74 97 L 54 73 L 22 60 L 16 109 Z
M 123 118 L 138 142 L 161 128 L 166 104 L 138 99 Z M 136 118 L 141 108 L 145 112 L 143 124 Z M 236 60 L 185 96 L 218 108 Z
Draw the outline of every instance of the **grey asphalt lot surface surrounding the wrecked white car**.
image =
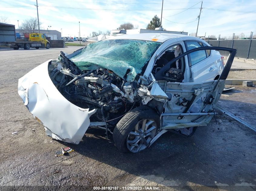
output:
M 18 96 L 18 78 L 57 58 L 60 50 L 72 53 L 79 48 L 0 50 L 2 190 L 93 190 L 92 186 L 128 185 L 154 185 L 161 190 L 256 189 L 256 132 L 220 111 L 216 122 L 213 119 L 208 126 L 199 127 L 192 137 L 165 133 L 138 154 L 119 153 L 101 130 L 88 129 L 79 145 L 47 137 Z M 222 94 L 218 105 L 255 126 L 255 87 L 236 86 Z M 66 145 L 75 151 L 55 157 L 55 151 Z

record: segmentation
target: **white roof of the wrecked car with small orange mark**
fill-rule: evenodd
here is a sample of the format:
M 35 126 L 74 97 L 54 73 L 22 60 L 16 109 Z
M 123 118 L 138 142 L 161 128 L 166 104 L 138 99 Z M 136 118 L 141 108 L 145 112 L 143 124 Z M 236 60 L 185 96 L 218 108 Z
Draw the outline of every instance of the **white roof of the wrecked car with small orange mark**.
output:
M 198 40 L 199 38 L 191 37 L 188 35 L 183 34 L 170 34 L 170 33 L 139 33 L 139 34 L 125 34 L 121 36 L 114 36 L 109 37 L 108 39 L 132 39 L 132 40 L 149 40 L 149 41 L 155 41 L 163 43 L 166 40 L 172 39 L 172 38 L 178 38 L 178 37 L 184 37 L 185 40 Z

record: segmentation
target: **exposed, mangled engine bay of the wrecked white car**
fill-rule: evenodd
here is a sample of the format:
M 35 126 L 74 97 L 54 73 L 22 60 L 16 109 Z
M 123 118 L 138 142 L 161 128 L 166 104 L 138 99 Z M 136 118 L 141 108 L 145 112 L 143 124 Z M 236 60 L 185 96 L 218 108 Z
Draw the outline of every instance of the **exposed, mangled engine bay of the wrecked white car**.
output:
M 153 98 L 146 95 L 149 92 L 147 87 L 136 79 L 128 82 L 106 68 L 81 71 L 63 53 L 60 57 L 61 60 L 56 62 L 56 65 L 52 63 L 50 66 L 52 69 L 49 68 L 49 76 L 68 101 L 81 108 L 97 109 L 97 112 L 90 117 L 91 122 L 103 121 L 112 129 L 125 113 L 133 107 L 147 104 Z M 129 69 L 126 73 L 129 73 Z M 148 87 L 150 88 L 150 85 Z M 144 94 L 140 91 L 141 96 L 138 96 L 139 89 L 149 100 L 145 101 L 146 97 L 143 97 Z M 162 109 L 168 97 L 159 98 Z M 155 107 L 159 105 L 156 104 Z

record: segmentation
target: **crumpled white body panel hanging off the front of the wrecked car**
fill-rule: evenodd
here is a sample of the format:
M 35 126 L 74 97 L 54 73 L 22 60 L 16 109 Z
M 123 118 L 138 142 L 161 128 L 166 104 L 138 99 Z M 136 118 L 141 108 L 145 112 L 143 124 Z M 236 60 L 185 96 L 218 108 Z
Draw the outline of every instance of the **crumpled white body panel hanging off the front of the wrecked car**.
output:
M 70 103 L 52 83 L 48 63 L 37 66 L 18 80 L 18 94 L 24 105 L 52 138 L 78 144 L 96 110 L 83 109 Z

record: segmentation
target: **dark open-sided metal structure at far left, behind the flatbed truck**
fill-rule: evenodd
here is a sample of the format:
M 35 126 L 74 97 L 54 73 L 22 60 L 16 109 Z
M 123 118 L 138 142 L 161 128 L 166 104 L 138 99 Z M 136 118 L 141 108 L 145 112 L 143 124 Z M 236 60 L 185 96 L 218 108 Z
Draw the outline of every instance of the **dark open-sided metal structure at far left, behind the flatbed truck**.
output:
M 0 42 L 15 42 L 15 25 L 0 23 Z

